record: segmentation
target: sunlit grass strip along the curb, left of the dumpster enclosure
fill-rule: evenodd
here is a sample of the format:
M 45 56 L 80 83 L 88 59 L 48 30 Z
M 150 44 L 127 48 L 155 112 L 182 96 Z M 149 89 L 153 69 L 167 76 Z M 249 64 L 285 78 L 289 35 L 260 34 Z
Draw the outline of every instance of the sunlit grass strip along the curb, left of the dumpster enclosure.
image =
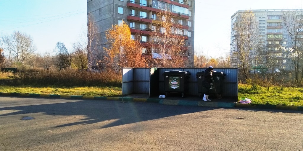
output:
M 83 95 L 83 96 L 122 96 L 121 87 L 33 87 L 23 86 L 2 86 L 1 92 L 7 93 L 34 93 L 34 94 L 55 94 L 55 95 Z

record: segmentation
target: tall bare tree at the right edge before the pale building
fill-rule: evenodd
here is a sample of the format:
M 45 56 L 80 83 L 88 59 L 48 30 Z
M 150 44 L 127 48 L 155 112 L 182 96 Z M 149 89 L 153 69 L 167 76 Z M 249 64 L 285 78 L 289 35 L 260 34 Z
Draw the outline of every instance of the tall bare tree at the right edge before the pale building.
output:
M 303 10 L 287 10 L 283 11 L 281 15 L 283 20 L 284 29 L 288 33 L 285 37 L 287 44 L 290 48 L 282 47 L 285 53 L 292 59 L 295 66 L 295 80 L 299 80 L 299 66 L 301 64 L 301 81 L 303 80 Z

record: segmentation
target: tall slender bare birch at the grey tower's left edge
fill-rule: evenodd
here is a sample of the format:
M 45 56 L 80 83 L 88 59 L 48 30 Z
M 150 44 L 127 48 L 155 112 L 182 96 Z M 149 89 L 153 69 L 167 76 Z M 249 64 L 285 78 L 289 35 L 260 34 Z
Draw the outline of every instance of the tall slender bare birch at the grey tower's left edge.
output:
M 98 33 L 98 25 L 95 22 L 95 18 L 88 14 L 87 22 L 87 60 L 88 60 L 88 70 L 92 71 L 92 67 L 97 64 L 98 60 L 98 46 L 100 45 L 100 35 Z

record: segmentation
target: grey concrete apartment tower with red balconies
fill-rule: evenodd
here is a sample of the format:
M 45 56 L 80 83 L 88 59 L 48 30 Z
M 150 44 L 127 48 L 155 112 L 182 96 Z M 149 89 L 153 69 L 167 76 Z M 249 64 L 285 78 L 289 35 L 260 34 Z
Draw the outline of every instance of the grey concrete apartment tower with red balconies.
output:
M 145 42 L 149 41 L 153 23 L 161 19 L 157 13 L 165 9 L 174 15 L 176 24 L 182 25 L 182 36 L 187 46 L 184 56 L 193 63 L 195 0 L 87 0 L 88 14 L 93 16 L 99 27 L 101 50 L 102 47 L 106 47 L 106 30 L 122 21 L 129 25 L 132 36 L 141 35 L 144 47 Z M 147 51 L 143 48 L 142 54 Z

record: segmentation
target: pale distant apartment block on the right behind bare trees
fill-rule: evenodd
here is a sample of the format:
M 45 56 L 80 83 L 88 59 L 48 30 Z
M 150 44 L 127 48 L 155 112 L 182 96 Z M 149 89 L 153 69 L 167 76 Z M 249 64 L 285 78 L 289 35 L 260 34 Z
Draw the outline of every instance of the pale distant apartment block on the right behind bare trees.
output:
M 246 10 L 238 10 L 231 16 L 231 33 L 233 32 L 234 24 L 237 24 L 238 17 L 245 13 Z M 256 21 L 258 22 L 258 39 L 256 41 L 261 42 L 263 44 L 262 51 L 267 51 L 274 58 L 271 60 L 272 69 L 294 69 L 294 65 L 292 64 L 291 58 L 288 58 L 287 55 L 281 50 L 280 46 L 284 46 L 286 48 L 292 47 L 288 42 L 289 33 L 286 31 L 284 27 L 284 22 L 281 18 L 283 11 L 298 11 L 291 9 L 261 9 L 261 10 L 251 10 L 254 14 Z M 299 10 L 302 11 L 302 10 Z M 231 34 L 231 66 L 238 67 L 239 59 L 234 52 L 237 50 L 235 45 L 235 37 Z M 261 55 L 258 53 L 257 55 Z M 268 57 L 261 56 L 261 62 L 255 64 L 255 66 L 262 66 L 268 63 Z M 252 63 L 253 64 L 253 63 Z

